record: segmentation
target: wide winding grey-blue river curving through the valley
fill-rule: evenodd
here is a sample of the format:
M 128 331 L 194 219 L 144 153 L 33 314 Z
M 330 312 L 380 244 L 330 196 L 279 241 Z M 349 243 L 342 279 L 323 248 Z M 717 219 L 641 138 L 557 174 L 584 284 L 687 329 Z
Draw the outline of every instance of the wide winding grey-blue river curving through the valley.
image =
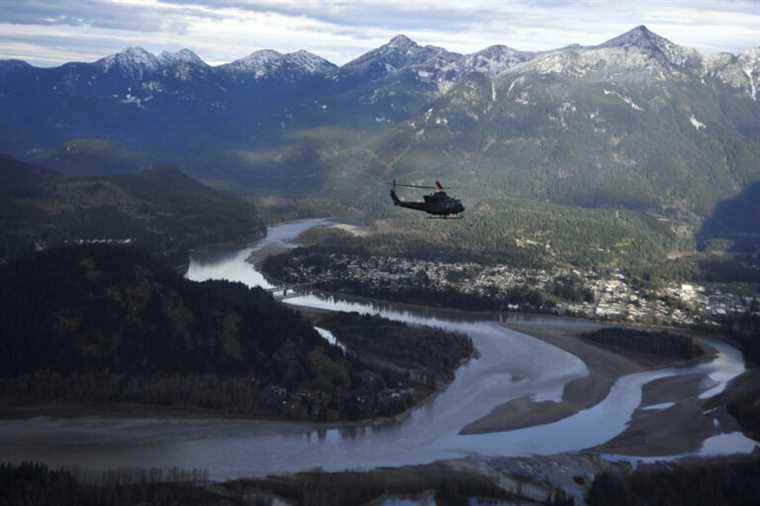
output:
M 246 259 L 257 249 L 290 247 L 301 232 L 328 224 L 304 220 L 272 227 L 254 246 L 215 256 L 191 258 L 191 280 L 229 279 L 271 287 Z M 287 299 L 293 305 L 359 311 L 418 325 L 465 332 L 480 352 L 456 373 L 441 394 L 412 410 L 401 422 L 351 428 L 314 424 L 229 419 L 76 418 L 0 422 L 0 460 L 40 460 L 52 465 L 91 468 L 171 467 L 208 469 L 213 479 L 252 474 L 371 468 L 422 464 L 470 454 L 517 456 L 582 450 L 625 430 L 641 402 L 644 384 L 668 376 L 709 374 L 711 394 L 744 371 L 734 348 L 719 351 L 710 363 L 620 378 L 596 406 L 556 423 L 483 435 L 459 435 L 462 427 L 508 400 L 531 396 L 558 400 L 564 385 L 588 374 L 574 355 L 533 337 L 505 329 L 483 317 L 453 317 L 450 312 L 410 310 L 389 304 L 357 303 L 314 295 Z M 556 320 L 558 324 L 591 325 Z M 329 336 L 326 336 L 329 338 Z M 754 443 L 741 434 L 705 442 L 711 454 L 749 451 Z

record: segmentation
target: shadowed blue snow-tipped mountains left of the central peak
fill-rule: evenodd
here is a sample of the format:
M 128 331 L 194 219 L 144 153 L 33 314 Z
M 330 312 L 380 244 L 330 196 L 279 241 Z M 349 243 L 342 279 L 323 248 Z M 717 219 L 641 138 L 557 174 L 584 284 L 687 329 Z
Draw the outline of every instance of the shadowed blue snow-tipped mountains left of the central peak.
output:
M 322 114 L 308 97 L 333 66 L 304 51 L 269 56 L 211 67 L 187 49 L 128 48 L 56 68 L 0 62 L 0 151 L 28 157 L 103 139 L 187 161 L 271 143 L 299 108 L 308 124 Z

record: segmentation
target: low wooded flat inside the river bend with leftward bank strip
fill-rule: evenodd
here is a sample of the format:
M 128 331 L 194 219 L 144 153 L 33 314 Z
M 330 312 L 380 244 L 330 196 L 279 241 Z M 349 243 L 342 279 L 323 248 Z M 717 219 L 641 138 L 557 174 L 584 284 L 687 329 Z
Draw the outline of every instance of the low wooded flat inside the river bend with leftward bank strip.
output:
M 47 417 L 54 419 L 93 418 L 153 418 L 182 420 L 247 420 L 296 425 L 302 431 L 327 430 L 348 427 L 376 427 L 400 423 L 409 413 L 429 402 L 453 381 L 456 371 L 477 355 L 472 340 L 461 333 L 434 327 L 420 327 L 394 322 L 373 316 L 349 313 L 301 310 L 307 326 L 318 327 L 320 333 L 329 329 L 322 344 L 310 352 L 308 360 L 316 363 L 315 370 L 325 378 L 339 384 L 343 390 L 338 409 L 330 409 L 323 390 L 316 388 L 286 389 L 282 383 L 248 387 L 242 402 L 253 402 L 270 391 L 279 392 L 276 401 L 287 409 L 249 409 L 238 412 L 228 406 L 176 405 L 168 402 L 140 402 L 115 398 L 46 398 L 23 395 L 4 397 L 0 419 Z M 334 334 L 332 334 L 334 333 Z M 337 336 L 338 340 L 333 336 Z M 334 346 L 331 346 L 334 345 Z M 342 352 L 338 349 L 343 350 Z M 346 369 L 342 364 L 351 364 Z M 324 372 L 326 371 L 326 372 Z M 166 379 L 169 378 L 169 379 Z M 158 376 L 153 383 L 160 384 L 175 378 Z M 250 377 L 215 378 L 216 381 L 243 381 Z M 337 379 L 334 379 L 337 378 Z M 39 382 L 43 382 L 41 378 Z M 103 381 L 103 377 L 97 380 Z M 30 380 L 34 381 L 34 380 Z M 62 380 L 61 380 L 62 381 Z M 59 381 L 59 382 L 61 382 Z M 129 378 L 129 381 L 136 381 Z M 185 381 L 193 384 L 193 378 Z M 34 385 L 33 383 L 31 383 Z M 152 385 L 152 384 L 151 384 Z M 316 387 L 320 383 L 315 382 Z M 0 387 L 6 384 L 0 382 Z M 2 390 L 2 389 L 0 389 Z M 7 388 L 11 391 L 10 387 Z M 224 391 L 220 389 L 222 394 Z M 280 393 L 281 392 L 281 393 Z M 329 393 L 330 390 L 327 390 Z M 295 404 L 296 410 L 286 405 Z M 317 404 L 319 403 L 319 404 Z M 350 404 L 349 404 L 350 403 Z M 254 405 L 258 408 L 259 404 Z M 317 412 L 314 406 L 328 406 Z M 342 416 L 341 416 L 342 415 Z

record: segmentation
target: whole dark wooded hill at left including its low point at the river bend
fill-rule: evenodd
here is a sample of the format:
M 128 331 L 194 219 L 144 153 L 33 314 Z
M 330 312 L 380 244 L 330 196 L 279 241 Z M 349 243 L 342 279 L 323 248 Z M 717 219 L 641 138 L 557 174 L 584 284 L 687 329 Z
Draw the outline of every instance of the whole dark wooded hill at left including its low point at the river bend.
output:
M 448 357 L 428 364 L 433 380 L 415 379 L 387 350 L 378 365 L 329 345 L 260 288 L 188 281 L 129 246 L 67 246 L 11 261 L 0 266 L 0 301 L 8 408 L 52 401 L 312 420 L 390 416 L 472 352 L 467 339 L 429 331 L 436 340 L 428 342 L 426 332 L 410 336 L 396 324 L 410 343 Z

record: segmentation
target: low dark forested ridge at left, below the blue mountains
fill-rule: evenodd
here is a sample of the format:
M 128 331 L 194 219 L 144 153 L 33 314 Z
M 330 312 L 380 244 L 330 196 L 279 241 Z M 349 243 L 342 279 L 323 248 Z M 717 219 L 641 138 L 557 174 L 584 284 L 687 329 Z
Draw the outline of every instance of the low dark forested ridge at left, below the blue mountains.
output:
M 189 250 L 263 235 L 251 204 L 174 168 L 100 177 L 0 156 L 0 258 L 66 243 L 131 243 L 181 264 Z

